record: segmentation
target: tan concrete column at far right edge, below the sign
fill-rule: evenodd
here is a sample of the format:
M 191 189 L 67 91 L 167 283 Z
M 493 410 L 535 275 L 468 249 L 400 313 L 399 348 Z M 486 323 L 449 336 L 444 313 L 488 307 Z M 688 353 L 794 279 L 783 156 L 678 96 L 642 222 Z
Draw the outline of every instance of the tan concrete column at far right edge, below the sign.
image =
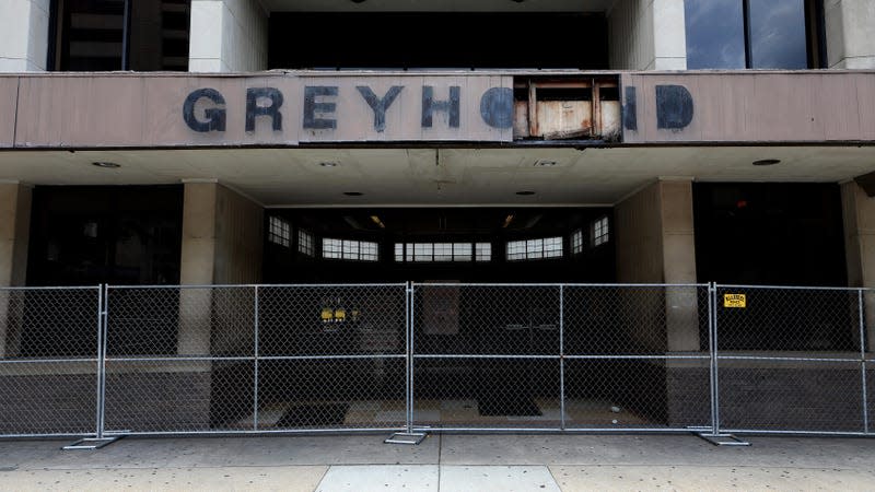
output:
M 875 286 L 875 198 L 868 197 L 855 181 L 841 185 L 844 220 L 844 258 L 848 285 Z M 864 297 L 866 337 L 870 350 L 875 343 L 875 294 Z

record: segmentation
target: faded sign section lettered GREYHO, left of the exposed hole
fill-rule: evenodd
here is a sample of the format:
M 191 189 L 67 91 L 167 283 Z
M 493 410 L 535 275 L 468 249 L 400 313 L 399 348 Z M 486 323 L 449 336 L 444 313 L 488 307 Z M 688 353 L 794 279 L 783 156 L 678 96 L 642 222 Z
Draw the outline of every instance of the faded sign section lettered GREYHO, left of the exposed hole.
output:
M 506 142 L 511 85 L 504 75 L 0 77 L 10 92 L 0 116 L 19 108 L 0 117 L 0 148 Z

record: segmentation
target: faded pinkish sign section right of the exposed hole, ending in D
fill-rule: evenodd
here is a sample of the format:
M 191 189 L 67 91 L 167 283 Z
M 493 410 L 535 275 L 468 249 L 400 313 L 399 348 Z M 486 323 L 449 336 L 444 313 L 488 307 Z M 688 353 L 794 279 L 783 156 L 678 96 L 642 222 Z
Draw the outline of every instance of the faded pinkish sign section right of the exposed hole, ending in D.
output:
M 623 73 L 623 142 L 875 141 L 873 75 Z

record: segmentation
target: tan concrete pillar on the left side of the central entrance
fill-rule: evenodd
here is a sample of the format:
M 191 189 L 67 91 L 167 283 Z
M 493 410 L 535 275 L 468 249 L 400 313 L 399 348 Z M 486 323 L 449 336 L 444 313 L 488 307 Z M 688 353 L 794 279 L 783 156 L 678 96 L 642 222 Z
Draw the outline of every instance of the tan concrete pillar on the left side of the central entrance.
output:
M 210 285 L 260 281 L 261 206 L 218 183 L 186 183 L 184 196 L 179 282 L 184 285 Z M 183 289 L 179 296 L 179 354 L 206 354 L 220 350 L 210 345 L 215 327 L 233 329 L 242 326 L 213 318 L 210 307 L 215 292 L 209 289 Z M 245 298 L 243 294 L 230 295 L 223 302 Z M 245 306 L 222 312 L 235 316 L 248 316 L 249 313 Z M 221 333 L 221 337 L 213 338 L 231 343 L 236 335 Z

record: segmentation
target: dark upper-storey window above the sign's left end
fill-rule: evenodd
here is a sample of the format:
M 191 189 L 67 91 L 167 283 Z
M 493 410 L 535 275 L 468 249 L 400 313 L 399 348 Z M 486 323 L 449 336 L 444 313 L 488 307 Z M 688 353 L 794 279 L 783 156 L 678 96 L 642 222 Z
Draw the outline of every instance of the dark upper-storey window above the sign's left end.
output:
M 190 0 L 51 4 L 51 70 L 188 70 Z

